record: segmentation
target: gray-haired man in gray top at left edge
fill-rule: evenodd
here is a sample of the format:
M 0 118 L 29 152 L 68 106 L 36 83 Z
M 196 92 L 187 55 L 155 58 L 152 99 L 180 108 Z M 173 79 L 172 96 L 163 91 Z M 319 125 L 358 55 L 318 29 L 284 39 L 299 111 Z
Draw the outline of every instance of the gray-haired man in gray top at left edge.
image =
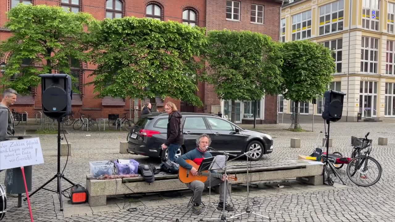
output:
M 15 134 L 14 119 L 8 107 L 13 105 L 16 101 L 17 91 L 12 88 L 4 90 L 3 99 L 0 102 L 0 141 L 8 140 L 6 137 Z

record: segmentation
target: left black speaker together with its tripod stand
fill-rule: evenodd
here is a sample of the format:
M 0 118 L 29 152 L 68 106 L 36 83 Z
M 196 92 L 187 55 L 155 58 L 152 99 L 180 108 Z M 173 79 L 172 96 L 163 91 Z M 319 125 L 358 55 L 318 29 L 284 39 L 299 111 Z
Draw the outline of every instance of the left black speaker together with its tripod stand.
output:
M 71 77 L 67 74 L 41 74 L 38 76 L 41 77 L 41 103 L 43 113 L 51 119 L 58 120 L 58 171 L 55 176 L 32 192 L 29 197 L 33 196 L 41 189 L 48 190 L 44 188 L 44 186 L 54 179 L 57 179 L 58 186 L 56 191 L 49 191 L 59 195 L 60 210 L 63 211 L 62 192 L 64 190 L 62 190 L 60 179 L 63 178 L 70 184 L 75 185 L 60 172 L 60 123 L 62 122 L 62 117 L 71 113 L 71 95 L 73 93 L 71 91 Z M 24 200 L 26 199 L 27 198 L 24 198 Z

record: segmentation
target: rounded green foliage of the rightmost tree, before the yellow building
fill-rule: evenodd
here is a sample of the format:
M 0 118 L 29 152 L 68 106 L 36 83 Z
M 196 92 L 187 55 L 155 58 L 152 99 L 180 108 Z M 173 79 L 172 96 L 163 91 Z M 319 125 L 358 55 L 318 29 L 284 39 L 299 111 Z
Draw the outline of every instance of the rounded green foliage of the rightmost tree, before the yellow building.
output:
M 284 99 L 308 102 L 327 90 L 335 73 L 332 52 L 308 40 L 283 43 L 282 91 Z

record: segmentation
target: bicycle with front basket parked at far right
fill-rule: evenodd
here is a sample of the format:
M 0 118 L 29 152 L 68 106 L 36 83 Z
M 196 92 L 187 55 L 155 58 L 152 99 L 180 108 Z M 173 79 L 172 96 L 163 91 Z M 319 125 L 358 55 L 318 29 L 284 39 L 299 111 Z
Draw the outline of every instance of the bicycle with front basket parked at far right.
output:
M 367 138 L 369 134 L 370 133 L 368 132 L 365 135 L 365 138 L 351 137 L 351 143 L 354 146 L 352 157 L 354 157 L 348 163 L 346 171 L 348 178 L 350 178 L 350 180 L 358 186 L 372 186 L 380 180 L 382 174 L 382 167 L 380 163 L 370 156 L 373 140 Z M 363 152 L 363 154 L 361 154 L 361 151 L 365 148 L 367 148 L 367 150 Z M 368 167 L 368 162 L 373 163 L 375 166 L 373 166 L 373 164 L 370 164 Z M 369 177 L 367 177 L 367 173 L 374 171 L 375 167 L 378 170 L 377 177 L 375 179 L 374 177 L 372 177 L 374 179 L 372 182 L 369 182 L 367 184 L 362 183 L 364 180 L 367 181 L 367 179 L 370 179 L 371 176 L 369 175 Z M 354 177 L 356 173 L 357 175 L 356 177 Z M 357 182 L 357 179 L 360 179 L 361 182 Z

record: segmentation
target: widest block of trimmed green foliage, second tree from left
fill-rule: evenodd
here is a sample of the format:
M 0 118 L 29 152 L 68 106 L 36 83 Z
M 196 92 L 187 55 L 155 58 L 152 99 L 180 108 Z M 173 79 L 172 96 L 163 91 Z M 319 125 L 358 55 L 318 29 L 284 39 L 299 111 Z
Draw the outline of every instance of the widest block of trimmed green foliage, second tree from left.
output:
M 92 73 L 98 97 L 169 96 L 202 105 L 195 92 L 206 45 L 205 29 L 178 22 L 124 17 L 91 26 L 88 44 L 98 67 Z

